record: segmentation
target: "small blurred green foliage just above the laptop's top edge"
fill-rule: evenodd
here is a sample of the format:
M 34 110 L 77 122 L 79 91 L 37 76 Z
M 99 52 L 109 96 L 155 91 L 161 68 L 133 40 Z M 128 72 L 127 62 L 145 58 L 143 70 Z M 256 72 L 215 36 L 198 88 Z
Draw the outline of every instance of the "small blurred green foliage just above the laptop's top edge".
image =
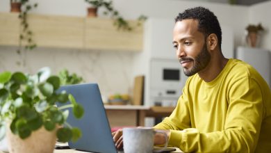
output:
M 69 73 L 67 69 L 63 69 L 58 73 L 60 85 L 78 84 L 83 82 L 83 78 L 76 73 Z

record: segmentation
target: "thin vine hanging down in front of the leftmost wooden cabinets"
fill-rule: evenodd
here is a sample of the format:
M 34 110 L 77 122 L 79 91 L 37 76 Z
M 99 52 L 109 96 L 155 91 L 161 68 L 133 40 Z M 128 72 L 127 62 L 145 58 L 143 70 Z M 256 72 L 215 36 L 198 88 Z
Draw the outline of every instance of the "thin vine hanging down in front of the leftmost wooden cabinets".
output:
M 19 19 L 21 21 L 20 22 L 21 32 L 19 34 L 19 49 L 17 50 L 18 54 L 21 53 L 23 43 L 25 43 L 24 49 L 26 50 L 32 50 L 35 47 L 37 47 L 37 44 L 33 40 L 33 32 L 31 31 L 31 29 L 29 29 L 28 13 L 33 8 L 37 8 L 38 3 L 34 3 L 33 5 L 31 5 L 28 2 L 29 2 L 28 0 L 22 0 L 21 6 L 22 12 L 19 13 Z

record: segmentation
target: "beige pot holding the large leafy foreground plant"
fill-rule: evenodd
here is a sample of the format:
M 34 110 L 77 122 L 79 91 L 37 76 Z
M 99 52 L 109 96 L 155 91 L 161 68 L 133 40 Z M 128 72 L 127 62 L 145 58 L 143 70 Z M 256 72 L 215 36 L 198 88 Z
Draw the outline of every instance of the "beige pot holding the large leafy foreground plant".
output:
M 6 136 L 8 140 L 8 150 L 10 153 L 53 153 L 56 145 L 56 129 L 47 131 L 44 127 L 33 131 L 26 139 L 19 138 L 10 131 L 8 125 Z

